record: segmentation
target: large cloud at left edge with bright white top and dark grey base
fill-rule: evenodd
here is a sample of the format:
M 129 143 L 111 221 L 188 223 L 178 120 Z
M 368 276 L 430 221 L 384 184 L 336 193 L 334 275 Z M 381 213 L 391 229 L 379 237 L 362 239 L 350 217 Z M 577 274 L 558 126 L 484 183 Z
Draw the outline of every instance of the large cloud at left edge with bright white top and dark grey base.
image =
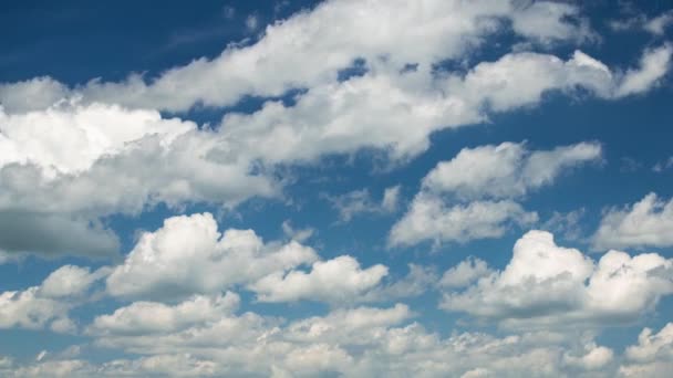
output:
M 111 256 L 117 238 L 99 221 L 158 202 L 232 206 L 273 196 L 249 161 L 218 160 L 209 130 L 155 111 L 63 104 L 0 109 L 0 249 L 45 256 Z

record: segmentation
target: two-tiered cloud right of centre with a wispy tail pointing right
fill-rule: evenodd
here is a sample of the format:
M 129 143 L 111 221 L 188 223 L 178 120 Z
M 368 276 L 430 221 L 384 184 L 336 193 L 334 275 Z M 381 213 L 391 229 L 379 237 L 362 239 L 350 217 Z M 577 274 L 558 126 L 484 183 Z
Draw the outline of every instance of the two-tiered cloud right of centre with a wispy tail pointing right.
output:
M 600 157 L 600 145 L 590 143 L 540 151 L 514 143 L 464 148 L 425 176 L 389 241 L 391 245 L 425 240 L 467 242 L 500 237 L 512 224 L 530 225 L 538 220 L 537 213 L 510 198 L 522 197 L 551 183 L 561 171 Z

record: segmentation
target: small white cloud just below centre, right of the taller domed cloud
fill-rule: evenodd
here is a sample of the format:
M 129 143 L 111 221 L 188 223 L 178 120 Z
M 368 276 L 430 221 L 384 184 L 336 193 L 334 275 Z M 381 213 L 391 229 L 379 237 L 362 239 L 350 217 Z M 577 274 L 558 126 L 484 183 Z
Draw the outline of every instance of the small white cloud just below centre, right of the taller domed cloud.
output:
M 384 265 L 361 269 L 358 260 L 342 255 L 314 262 L 308 273 L 296 270 L 271 273 L 248 287 L 261 302 L 313 300 L 349 303 L 379 285 L 386 274 Z

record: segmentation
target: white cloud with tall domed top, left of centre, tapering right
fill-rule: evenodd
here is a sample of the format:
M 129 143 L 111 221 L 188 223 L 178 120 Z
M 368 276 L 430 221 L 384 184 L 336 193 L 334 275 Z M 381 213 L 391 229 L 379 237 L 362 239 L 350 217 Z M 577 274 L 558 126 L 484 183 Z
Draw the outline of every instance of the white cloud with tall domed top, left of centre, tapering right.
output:
M 146 232 L 107 277 L 116 296 L 180 298 L 219 293 L 318 260 L 296 241 L 265 244 L 252 230 L 217 231 L 211 214 L 173 217 Z

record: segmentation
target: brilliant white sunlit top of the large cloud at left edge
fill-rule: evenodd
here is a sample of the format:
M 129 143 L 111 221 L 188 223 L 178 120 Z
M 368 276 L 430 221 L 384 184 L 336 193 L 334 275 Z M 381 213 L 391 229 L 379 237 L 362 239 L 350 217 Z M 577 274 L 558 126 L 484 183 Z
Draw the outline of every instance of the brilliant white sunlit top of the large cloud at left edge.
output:
M 24 114 L 0 111 L 0 167 L 31 164 L 42 168 L 48 178 L 77 174 L 145 136 L 156 135 L 162 145 L 168 145 L 194 129 L 191 122 L 165 119 L 156 111 L 118 105 L 63 104 Z

